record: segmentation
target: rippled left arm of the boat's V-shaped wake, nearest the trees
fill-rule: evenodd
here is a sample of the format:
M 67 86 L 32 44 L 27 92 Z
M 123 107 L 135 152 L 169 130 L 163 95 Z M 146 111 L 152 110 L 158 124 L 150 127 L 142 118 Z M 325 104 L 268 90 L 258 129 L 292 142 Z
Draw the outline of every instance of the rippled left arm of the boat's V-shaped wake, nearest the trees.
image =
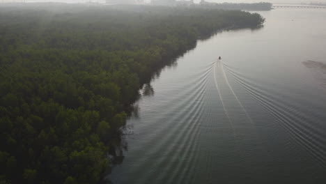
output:
M 146 142 L 151 145 L 146 150 L 150 153 L 146 160 L 155 160 L 155 170 L 147 174 L 141 171 L 135 171 L 139 174 L 136 183 L 144 183 L 148 180 L 155 180 L 157 183 L 176 183 L 180 178 L 189 177 L 193 172 L 194 160 L 198 156 L 196 146 L 199 137 L 199 125 L 203 114 L 203 98 L 205 93 L 205 84 L 210 74 L 212 64 L 205 69 L 204 75 L 201 75 L 191 88 L 185 93 L 179 94 L 181 100 L 175 107 L 170 107 L 169 112 L 180 112 L 166 119 L 166 125 L 155 133 L 155 139 Z M 181 109 L 181 111 L 180 111 Z M 160 156 L 158 156 L 160 155 Z M 148 164 L 144 160 L 139 168 Z M 169 182 L 168 182 L 169 183 Z

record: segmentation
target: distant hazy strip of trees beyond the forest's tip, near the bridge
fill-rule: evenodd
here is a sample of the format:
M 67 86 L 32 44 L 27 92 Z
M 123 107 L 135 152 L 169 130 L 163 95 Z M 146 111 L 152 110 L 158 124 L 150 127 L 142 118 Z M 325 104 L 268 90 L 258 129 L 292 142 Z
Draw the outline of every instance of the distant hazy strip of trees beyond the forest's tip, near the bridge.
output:
M 272 10 L 272 3 L 202 3 L 204 8 L 216 8 L 222 10 Z

